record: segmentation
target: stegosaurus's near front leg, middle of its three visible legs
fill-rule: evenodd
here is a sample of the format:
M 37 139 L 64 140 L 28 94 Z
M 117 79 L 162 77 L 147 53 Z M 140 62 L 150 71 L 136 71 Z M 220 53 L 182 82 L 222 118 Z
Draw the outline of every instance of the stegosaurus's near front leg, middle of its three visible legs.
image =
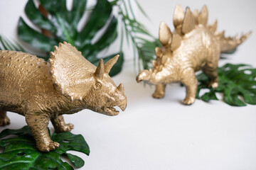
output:
M 181 83 L 186 86 L 186 98 L 183 100 L 183 103 L 186 105 L 193 104 L 196 100 L 198 86 L 198 80 L 196 79 L 193 69 L 186 69 L 186 71 L 183 72 Z

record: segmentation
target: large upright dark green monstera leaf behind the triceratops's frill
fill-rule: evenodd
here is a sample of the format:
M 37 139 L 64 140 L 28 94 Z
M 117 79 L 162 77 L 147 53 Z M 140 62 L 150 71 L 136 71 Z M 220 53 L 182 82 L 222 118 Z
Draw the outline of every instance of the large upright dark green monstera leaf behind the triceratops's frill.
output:
M 113 5 L 107 0 L 97 1 L 87 23 L 80 31 L 78 24 L 86 11 L 87 0 L 73 0 L 70 11 L 66 7 L 66 0 L 39 0 L 39 3 L 40 8 L 36 8 L 33 0 L 28 0 L 25 12 L 28 19 L 42 30 L 42 33 L 28 26 L 23 18 L 20 18 L 18 37 L 38 50 L 46 51 L 48 55 L 43 57 L 45 60 L 48 60 L 54 45 L 66 41 L 77 47 L 87 60 L 96 65 L 99 61 L 97 54 L 107 49 L 117 38 L 117 18 L 112 14 Z M 99 34 L 95 38 L 97 33 Z M 110 60 L 117 54 L 120 57 L 110 72 L 111 76 L 121 71 L 123 53 L 117 50 L 117 53 L 103 57 L 104 60 Z

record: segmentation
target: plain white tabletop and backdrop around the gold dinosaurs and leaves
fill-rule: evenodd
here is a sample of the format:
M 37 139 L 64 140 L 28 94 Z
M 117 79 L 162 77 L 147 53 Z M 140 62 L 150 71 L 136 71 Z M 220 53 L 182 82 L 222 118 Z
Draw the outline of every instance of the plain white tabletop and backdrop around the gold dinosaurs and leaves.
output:
M 250 38 L 220 65 L 231 62 L 256 67 L 256 1 L 139 2 L 151 20 L 139 11 L 137 18 L 155 36 L 160 21 L 173 30 L 176 4 L 190 6 L 192 10 L 206 4 L 209 23 L 217 18 L 218 30 L 225 30 L 225 35 L 252 30 Z M 25 4 L 26 0 L 0 0 L 1 35 L 16 38 L 18 16 L 24 16 Z M 127 48 L 125 56 L 122 73 L 113 79 L 116 84 L 124 84 L 126 111 L 114 117 L 88 110 L 65 115 L 67 123 L 75 124 L 72 132 L 82 134 L 90 146 L 90 157 L 78 153 L 85 160 L 82 169 L 256 169 L 256 106 L 234 107 L 223 101 L 199 100 L 192 106 L 183 106 L 185 89 L 178 84 L 167 86 L 165 98 L 151 98 L 154 87 L 135 81 L 132 50 Z M 18 114 L 9 113 L 9 118 L 11 125 L 6 128 L 26 125 Z M 51 124 L 49 127 L 53 128 Z

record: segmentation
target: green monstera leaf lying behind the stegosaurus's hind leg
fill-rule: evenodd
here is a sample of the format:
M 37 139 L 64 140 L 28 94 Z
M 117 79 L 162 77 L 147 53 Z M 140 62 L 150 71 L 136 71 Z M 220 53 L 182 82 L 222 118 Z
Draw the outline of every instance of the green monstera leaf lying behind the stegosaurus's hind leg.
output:
M 219 86 L 208 88 L 208 77 L 198 74 L 199 82 L 196 98 L 203 101 L 218 100 L 216 93 L 223 94 L 223 100 L 230 106 L 256 105 L 256 69 L 247 64 L 225 64 L 218 68 Z M 201 89 L 208 92 L 199 96 Z

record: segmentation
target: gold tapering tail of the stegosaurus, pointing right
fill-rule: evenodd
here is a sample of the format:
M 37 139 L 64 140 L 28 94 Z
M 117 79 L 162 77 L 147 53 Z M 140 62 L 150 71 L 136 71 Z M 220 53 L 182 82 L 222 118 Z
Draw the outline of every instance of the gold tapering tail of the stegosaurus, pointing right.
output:
M 240 37 L 238 35 L 235 37 L 223 37 L 220 40 L 220 52 L 232 52 L 238 45 L 244 42 L 251 33 L 251 31 L 245 35 L 242 33 Z

